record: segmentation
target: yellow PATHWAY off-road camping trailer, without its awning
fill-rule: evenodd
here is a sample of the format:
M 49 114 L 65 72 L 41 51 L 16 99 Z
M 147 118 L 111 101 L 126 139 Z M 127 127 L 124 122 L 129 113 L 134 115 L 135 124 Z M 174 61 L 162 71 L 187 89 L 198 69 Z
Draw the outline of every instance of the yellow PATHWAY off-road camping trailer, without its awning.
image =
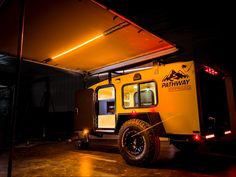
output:
M 228 80 L 194 61 L 154 62 L 143 70 L 110 75 L 77 92 L 79 142 L 88 145 L 89 134 L 118 135 L 124 160 L 143 165 L 157 160 L 160 137 L 179 149 L 219 140 L 231 134 Z

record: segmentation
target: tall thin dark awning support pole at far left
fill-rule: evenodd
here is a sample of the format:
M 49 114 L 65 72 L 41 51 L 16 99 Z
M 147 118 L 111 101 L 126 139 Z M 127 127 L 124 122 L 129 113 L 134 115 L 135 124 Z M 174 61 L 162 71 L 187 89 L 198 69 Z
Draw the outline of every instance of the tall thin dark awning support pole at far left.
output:
M 10 127 L 10 144 L 9 144 L 9 157 L 8 157 L 8 170 L 7 176 L 12 176 L 12 156 L 14 153 L 15 143 L 15 127 L 16 118 L 19 113 L 19 90 L 21 80 L 21 67 L 22 67 L 22 50 L 23 50 L 23 39 L 24 39 L 24 19 L 25 19 L 25 2 L 20 0 L 20 14 L 19 14 L 19 34 L 18 34 L 18 45 L 17 45 L 17 65 L 16 65 L 16 85 L 13 90 L 13 98 L 11 105 L 11 127 Z

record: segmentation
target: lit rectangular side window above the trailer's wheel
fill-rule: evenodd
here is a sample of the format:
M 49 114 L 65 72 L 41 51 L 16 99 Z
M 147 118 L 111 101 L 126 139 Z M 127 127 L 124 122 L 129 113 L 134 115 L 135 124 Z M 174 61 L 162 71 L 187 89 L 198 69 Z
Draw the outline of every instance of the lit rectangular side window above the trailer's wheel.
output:
M 124 108 L 149 107 L 156 104 L 155 82 L 129 84 L 123 87 Z

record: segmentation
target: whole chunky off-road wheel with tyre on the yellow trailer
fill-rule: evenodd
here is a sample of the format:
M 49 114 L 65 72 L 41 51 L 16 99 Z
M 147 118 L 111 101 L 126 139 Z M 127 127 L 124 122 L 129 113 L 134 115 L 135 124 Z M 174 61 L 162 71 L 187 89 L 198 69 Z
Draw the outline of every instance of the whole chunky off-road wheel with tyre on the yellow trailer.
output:
M 153 162 L 159 153 L 159 138 L 155 136 L 150 124 L 139 119 L 125 122 L 119 131 L 120 154 L 126 163 L 140 166 Z

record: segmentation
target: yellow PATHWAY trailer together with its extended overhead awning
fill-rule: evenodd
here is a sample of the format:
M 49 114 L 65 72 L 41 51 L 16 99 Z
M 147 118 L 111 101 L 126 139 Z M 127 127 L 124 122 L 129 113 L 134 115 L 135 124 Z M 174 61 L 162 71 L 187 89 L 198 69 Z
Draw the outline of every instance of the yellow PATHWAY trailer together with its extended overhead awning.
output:
M 176 51 L 174 45 L 109 8 L 99 7 L 93 0 L 58 1 L 50 6 L 39 2 L 50 8 L 41 13 L 50 13 L 38 17 L 41 23 L 31 19 L 26 24 L 30 24 L 26 29 L 32 31 L 24 35 L 31 39 L 24 46 L 24 56 L 32 62 L 90 72 L 104 66 L 110 69 L 114 63 L 127 61 L 128 65 L 130 60 L 136 63 Z M 35 12 L 33 7 L 39 6 L 29 8 L 31 12 Z M 61 13 L 62 7 L 70 13 Z M 38 24 L 43 25 L 39 27 Z M 70 26 L 64 30 L 48 30 L 61 28 L 61 24 Z M 17 56 L 15 48 L 7 45 L 10 44 L 8 40 L 4 41 L 11 39 L 11 30 L 0 34 L 3 39 L 1 52 Z M 45 37 L 35 38 L 35 34 Z M 58 36 L 65 49 L 58 42 Z M 42 44 L 40 50 L 39 44 Z M 68 52 L 73 54 L 66 55 Z M 77 92 L 75 130 L 85 142 L 89 142 L 89 134 L 118 135 L 120 152 L 127 163 L 153 162 L 159 154 L 159 137 L 168 137 L 181 147 L 182 143 L 195 144 L 231 132 L 229 118 L 232 116 L 229 116 L 230 105 L 226 98 L 232 95 L 226 96 L 227 78 L 222 78 L 212 68 L 196 66 L 192 61 L 154 65 L 142 71 L 110 77 Z M 83 130 L 88 130 L 89 134 L 84 131 L 83 135 Z

